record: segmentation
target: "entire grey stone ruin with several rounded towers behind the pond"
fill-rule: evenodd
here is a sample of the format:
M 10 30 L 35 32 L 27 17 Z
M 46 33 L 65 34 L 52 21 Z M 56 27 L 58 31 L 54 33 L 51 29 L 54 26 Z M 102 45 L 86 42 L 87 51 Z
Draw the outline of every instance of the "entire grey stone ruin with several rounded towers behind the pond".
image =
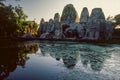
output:
M 41 19 L 38 35 L 44 39 L 108 40 L 112 38 L 113 31 L 112 23 L 105 20 L 101 8 L 94 8 L 89 16 L 88 9 L 84 7 L 79 19 L 74 6 L 68 4 L 64 7 L 61 18 L 56 13 L 54 20 L 45 22 Z

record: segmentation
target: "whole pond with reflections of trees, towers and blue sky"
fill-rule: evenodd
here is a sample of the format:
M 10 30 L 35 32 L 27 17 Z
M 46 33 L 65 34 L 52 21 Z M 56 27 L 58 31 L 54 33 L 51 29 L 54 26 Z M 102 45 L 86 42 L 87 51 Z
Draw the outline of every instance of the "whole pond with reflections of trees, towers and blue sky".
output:
M 0 80 L 120 80 L 120 45 L 28 41 L 1 46 Z

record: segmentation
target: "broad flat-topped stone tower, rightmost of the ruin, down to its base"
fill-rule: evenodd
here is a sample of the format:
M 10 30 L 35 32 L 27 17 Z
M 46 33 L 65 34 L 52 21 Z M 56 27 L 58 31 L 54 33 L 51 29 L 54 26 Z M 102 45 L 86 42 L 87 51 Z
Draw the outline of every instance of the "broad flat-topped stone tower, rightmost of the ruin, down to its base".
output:
M 85 39 L 98 40 L 103 37 L 102 30 L 105 30 L 105 16 L 101 8 L 94 8 L 86 24 Z

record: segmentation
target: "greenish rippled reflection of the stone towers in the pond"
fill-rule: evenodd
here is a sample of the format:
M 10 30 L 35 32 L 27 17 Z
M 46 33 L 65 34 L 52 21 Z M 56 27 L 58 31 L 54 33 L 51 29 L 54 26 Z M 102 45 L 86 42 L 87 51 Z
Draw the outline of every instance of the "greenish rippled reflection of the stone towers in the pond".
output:
M 49 45 L 50 46 L 50 45 Z M 84 67 L 90 65 L 91 69 L 94 71 L 101 71 L 105 59 L 110 57 L 105 48 L 98 46 L 98 50 L 94 48 L 89 48 L 85 46 L 76 46 L 71 44 L 67 46 L 66 44 L 53 45 L 51 47 L 43 46 L 41 48 L 42 54 L 50 54 L 56 60 L 62 59 L 65 67 L 74 68 L 77 62 L 80 60 Z

